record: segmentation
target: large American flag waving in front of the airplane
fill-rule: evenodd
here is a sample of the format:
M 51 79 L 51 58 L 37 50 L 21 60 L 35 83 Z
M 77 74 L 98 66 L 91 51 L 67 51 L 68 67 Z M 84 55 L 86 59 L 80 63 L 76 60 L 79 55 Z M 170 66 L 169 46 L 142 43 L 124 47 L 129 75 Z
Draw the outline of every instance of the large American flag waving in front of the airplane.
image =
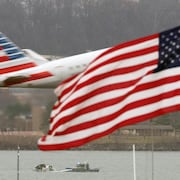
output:
M 83 145 L 180 109 L 180 26 L 117 45 L 60 84 L 41 150 Z

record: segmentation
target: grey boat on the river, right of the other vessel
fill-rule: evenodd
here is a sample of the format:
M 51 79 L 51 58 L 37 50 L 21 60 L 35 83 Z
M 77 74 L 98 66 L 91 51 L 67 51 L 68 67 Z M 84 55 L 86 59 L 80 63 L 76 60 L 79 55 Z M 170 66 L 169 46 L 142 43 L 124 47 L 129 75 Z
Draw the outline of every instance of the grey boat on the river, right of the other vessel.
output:
M 78 162 L 75 167 L 66 168 L 62 170 L 61 172 L 99 172 L 99 168 L 90 168 L 89 163 Z

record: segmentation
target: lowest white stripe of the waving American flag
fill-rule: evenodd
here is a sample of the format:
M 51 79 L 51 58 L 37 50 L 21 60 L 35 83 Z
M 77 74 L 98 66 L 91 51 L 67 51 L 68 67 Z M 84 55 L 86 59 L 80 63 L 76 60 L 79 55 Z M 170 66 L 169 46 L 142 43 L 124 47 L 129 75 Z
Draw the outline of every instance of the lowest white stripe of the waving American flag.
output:
M 154 104 L 146 105 L 146 106 L 141 106 L 138 109 L 133 109 L 129 112 L 126 112 L 124 116 L 127 116 L 129 118 L 129 115 L 132 117 L 137 117 L 137 111 L 141 112 L 140 115 L 145 115 L 147 113 L 151 113 L 154 111 L 157 111 L 161 108 L 166 108 L 174 105 L 179 105 L 180 102 L 180 97 L 175 96 L 169 99 L 164 99 L 162 101 L 156 102 Z M 90 137 L 91 135 L 95 135 L 98 133 L 102 133 L 113 126 L 117 125 L 119 123 L 119 119 L 116 118 L 113 121 L 107 122 L 102 125 L 97 125 L 95 127 L 89 128 L 89 129 L 84 129 L 78 132 L 74 133 L 69 133 L 67 135 L 61 135 L 61 136 L 47 136 L 46 141 L 41 141 L 39 140 L 38 144 L 39 145 L 50 145 L 50 144 L 62 144 L 62 143 L 68 143 L 68 142 L 73 142 L 76 140 L 81 140 L 83 138 Z

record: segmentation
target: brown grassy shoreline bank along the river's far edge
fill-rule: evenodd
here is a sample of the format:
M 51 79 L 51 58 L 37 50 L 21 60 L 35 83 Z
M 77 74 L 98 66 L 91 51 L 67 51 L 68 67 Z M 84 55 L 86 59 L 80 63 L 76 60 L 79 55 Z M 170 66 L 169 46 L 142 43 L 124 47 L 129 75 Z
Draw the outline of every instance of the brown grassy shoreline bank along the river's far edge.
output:
M 0 150 L 39 150 L 37 141 L 40 134 L 27 135 L 0 135 Z M 89 142 L 83 146 L 69 150 L 98 150 L 98 151 L 132 151 L 132 144 L 136 145 L 136 151 L 151 151 L 152 142 L 154 151 L 180 151 L 180 137 L 177 136 L 105 136 Z

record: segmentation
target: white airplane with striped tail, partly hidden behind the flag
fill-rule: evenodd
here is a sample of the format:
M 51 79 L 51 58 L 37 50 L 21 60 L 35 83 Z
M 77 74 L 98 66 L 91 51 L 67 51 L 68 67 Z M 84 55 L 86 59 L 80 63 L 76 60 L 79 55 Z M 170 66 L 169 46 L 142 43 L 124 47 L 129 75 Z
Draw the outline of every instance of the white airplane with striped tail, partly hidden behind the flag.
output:
M 0 33 L 0 87 L 55 88 L 82 72 L 101 49 L 48 61 L 30 49 L 20 49 Z

